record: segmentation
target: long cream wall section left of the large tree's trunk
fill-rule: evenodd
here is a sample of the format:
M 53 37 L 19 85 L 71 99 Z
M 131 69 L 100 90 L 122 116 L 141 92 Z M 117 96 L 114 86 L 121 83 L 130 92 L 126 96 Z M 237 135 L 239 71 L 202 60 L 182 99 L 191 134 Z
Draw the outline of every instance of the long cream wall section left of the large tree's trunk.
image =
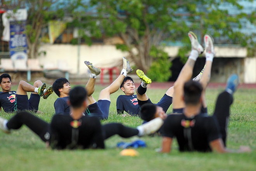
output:
M 81 45 L 80 60 L 78 62 L 78 45 L 42 45 L 40 51 L 45 51 L 39 56 L 40 65 L 52 68 L 68 69 L 69 73 L 87 73 L 88 68 L 84 61 L 88 60 L 97 67 L 111 67 L 122 64 L 123 56 L 127 52 L 117 50 L 113 45 Z M 79 66 L 78 66 L 79 65 Z

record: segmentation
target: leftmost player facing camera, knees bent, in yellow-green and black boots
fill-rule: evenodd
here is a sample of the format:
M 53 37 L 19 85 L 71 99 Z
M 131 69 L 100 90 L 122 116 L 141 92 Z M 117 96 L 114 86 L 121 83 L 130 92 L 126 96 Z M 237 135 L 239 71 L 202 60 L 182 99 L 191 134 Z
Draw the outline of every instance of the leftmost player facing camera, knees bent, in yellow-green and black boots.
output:
M 5 112 L 22 110 L 37 112 L 40 96 L 47 99 L 53 92 L 52 86 L 45 90 L 46 84 L 40 80 L 35 81 L 33 86 L 22 80 L 19 82 L 17 92 L 12 91 L 12 78 L 7 73 L 0 76 L 0 86 L 2 88 L 2 92 L 0 92 L 0 110 L 3 107 Z M 32 92 L 29 99 L 27 92 Z

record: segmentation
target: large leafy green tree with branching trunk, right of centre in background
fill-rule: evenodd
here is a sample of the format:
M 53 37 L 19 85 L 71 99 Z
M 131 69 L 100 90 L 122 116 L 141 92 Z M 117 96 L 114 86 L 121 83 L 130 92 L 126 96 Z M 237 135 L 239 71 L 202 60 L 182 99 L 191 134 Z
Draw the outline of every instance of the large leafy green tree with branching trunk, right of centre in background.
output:
M 253 14 L 229 14 L 220 5 L 243 7 L 239 0 L 91 0 L 97 9 L 97 19 L 106 36 L 118 35 L 123 44 L 118 49 L 128 51 L 139 69 L 147 72 L 154 59 L 150 53 L 163 48 L 163 41 L 183 43 L 180 56 L 187 54 L 190 44 L 187 33 L 194 31 L 203 42 L 210 33 L 217 43 L 255 46 L 255 35 L 241 32 L 244 21 L 255 24 Z M 251 0 L 248 0 L 251 2 Z M 223 7 L 223 6 L 222 6 Z M 222 41 L 224 40 L 224 41 Z M 253 48 L 251 48 L 253 49 Z M 167 61 L 168 62 L 168 61 Z M 169 65 L 169 64 L 168 64 Z

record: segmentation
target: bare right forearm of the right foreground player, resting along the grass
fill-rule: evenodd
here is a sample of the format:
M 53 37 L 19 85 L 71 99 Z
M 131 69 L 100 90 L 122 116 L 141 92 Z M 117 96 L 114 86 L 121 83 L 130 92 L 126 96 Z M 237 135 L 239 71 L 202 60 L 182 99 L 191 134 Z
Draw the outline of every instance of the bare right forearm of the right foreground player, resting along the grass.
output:
M 224 146 L 223 140 L 221 138 L 218 138 L 216 140 L 213 140 L 210 142 L 210 147 L 213 151 L 216 151 L 218 153 L 241 153 L 241 152 L 251 152 L 250 147 L 246 146 L 240 146 L 238 150 L 233 150 L 233 149 L 227 149 Z

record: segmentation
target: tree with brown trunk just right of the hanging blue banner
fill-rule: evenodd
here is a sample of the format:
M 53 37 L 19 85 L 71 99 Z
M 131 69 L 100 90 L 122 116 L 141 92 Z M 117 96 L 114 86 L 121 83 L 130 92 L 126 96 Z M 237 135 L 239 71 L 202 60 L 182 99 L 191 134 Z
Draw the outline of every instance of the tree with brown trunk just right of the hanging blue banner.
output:
M 51 19 L 61 18 L 64 16 L 64 10 L 56 4 L 57 0 L 2 0 L 2 6 L 5 10 L 14 10 L 26 8 L 28 10 L 28 19 L 26 27 L 28 57 L 35 58 L 38 55 L 40 45 L 40 36 L 42 28 L 47 26 Z M 56 5 L 54 9 L 51 9 Z

